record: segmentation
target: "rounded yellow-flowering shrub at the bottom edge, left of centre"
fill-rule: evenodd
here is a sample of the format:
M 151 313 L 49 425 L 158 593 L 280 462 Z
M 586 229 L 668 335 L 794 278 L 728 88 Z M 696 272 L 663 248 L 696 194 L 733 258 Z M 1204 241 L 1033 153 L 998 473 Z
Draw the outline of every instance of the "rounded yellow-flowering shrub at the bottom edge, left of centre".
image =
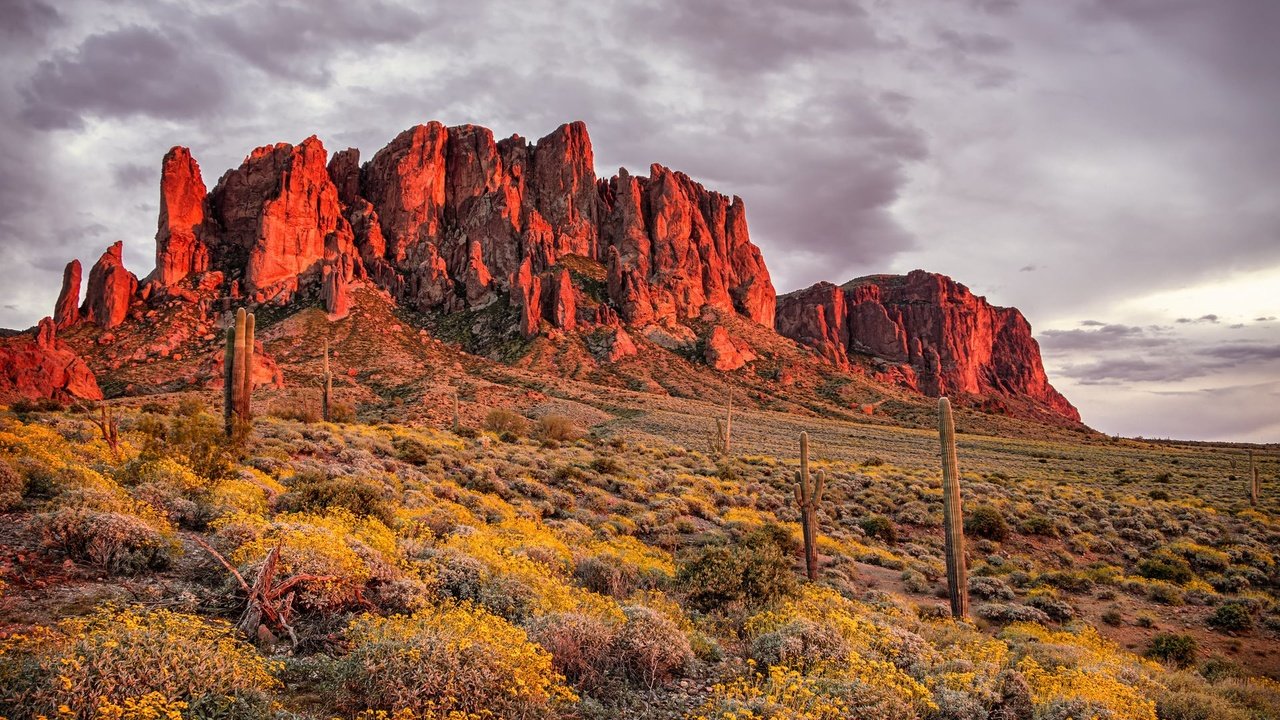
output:
M 524 630 L 468 603 L 413 615 L 357 618 L 339 664 L 347 712 L 417 717 L 550 717 L 577 698 L 549 652 Z

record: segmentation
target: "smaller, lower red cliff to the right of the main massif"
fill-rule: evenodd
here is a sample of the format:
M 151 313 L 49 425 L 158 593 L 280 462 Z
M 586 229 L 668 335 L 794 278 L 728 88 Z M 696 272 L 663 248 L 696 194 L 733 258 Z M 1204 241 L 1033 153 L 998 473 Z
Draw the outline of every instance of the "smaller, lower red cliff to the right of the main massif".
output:
M 1020 397 L 1080 419 L 1048 383 L 1023 314 L 946 275 L 913 270 L 818 283 L 778 299 L 777 331 L 841 368 L 877 359 L 883 379 L 929 396 Z

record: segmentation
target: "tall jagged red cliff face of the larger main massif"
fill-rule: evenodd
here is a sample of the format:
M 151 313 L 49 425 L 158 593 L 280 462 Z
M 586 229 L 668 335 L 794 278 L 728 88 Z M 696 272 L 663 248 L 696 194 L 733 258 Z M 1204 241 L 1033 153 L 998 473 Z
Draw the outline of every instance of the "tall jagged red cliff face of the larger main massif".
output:
M 333 316 L 349 311 L 349 286 L 364 279 L 420 311 L 509 299 L 526 336 L 579 322 L 678 322 L 704 305 L 773 324 L 773 286 L 741 200 L 660 165 L 648 178 L 598 179 L 582 123 L 536 143 L 429 123 L 364 165 L 357 150 L 329 159 L 310 137 L 259 147 L 207 193 L 200 165 L 175 147 L 160 196 L 143 297 L 209 270 L 232 301 L 314 293 Z M 570 256 L 607 268 L 605 311 L 580 302 L 559 266 Z M 118 323 L 124 284 L 104 288 L 91 274 L 87 319 Z M 109 316 L 97 310 L 104 292 Z

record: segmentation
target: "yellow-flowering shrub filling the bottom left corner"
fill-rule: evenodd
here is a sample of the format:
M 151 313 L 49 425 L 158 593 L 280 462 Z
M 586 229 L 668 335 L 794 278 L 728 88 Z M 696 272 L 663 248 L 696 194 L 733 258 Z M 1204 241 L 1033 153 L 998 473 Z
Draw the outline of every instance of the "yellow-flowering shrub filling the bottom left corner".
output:
M 0 715 L 168 717 L 146 712 L 261 700 L 279 685 L 276 670 L 224 621 L 105 606 L 0 641 Z

